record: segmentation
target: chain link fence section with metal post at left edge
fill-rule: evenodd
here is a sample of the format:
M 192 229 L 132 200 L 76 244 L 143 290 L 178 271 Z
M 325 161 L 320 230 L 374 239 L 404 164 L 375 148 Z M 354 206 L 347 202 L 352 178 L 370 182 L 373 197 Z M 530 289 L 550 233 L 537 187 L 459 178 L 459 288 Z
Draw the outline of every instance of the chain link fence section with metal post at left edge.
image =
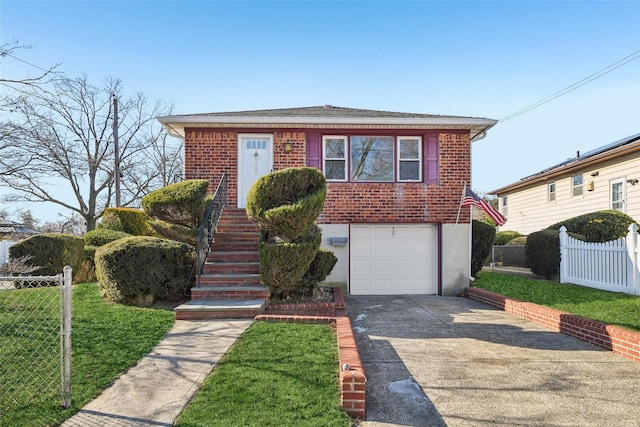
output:
M 0 408 L 71 405 L 71 267 L 0 276 Z

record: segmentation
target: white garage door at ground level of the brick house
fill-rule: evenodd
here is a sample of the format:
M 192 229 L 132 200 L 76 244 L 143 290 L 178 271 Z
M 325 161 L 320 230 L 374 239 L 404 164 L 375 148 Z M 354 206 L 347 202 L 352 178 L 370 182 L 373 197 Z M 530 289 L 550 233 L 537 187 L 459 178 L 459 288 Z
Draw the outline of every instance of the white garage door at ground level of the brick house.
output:
M 353 224 L 352 295 L 437 293 L 436 226 Z

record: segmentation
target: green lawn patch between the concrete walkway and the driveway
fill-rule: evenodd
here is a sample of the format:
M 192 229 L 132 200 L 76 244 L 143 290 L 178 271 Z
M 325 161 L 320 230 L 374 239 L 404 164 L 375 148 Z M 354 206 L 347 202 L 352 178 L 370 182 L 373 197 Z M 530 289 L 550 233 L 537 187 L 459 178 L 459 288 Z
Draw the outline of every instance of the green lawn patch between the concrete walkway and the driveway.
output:
M 254 323 L 176 425 L 349 426 L 340 406 L 337 353 L 329 326 Z

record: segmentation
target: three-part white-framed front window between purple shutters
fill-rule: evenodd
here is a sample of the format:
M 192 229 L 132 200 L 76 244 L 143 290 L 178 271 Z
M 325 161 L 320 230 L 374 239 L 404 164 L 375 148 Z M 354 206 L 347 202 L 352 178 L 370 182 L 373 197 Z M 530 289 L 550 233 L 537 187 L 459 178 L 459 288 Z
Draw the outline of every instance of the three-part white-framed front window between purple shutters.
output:
M 422 138 L 419 136 L 322 137 L 327 180 L 351 182 L 422 181 Z

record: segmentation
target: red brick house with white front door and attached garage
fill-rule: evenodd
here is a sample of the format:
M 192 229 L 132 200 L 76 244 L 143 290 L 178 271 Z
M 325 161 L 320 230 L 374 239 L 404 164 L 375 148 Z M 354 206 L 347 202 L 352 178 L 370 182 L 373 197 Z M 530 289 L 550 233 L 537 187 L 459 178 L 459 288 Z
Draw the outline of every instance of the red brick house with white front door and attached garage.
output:
M 456 219 L 471 142 L 495 120 L 331 105 L 159 120 L 184 139 L 185 177 L 215 188 L 226 173 L 232 206 L 244 207 L 271 171 L 322 170 L 322 246 L 338 257 L 327 282 L 352 294 L 452 295 L 468 285 L 469 208 Z

